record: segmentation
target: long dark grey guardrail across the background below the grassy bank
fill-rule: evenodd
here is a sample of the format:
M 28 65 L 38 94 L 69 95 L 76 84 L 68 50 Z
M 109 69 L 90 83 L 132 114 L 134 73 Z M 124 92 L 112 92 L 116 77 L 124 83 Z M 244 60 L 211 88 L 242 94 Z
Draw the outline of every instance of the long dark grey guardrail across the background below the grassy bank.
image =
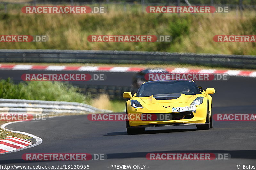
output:
M 256 56 L 140 51 L 0 50 L 0 62 L 192 64 L 256 69 Z

